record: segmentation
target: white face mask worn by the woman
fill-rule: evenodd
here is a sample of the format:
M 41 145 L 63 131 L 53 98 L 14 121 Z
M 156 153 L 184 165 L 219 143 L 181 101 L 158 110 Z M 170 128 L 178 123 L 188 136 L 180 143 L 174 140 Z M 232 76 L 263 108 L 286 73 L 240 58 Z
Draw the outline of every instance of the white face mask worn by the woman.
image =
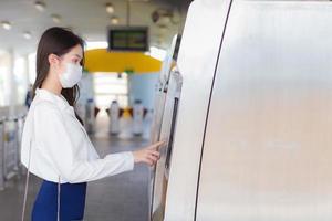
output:
M 72 63 L 66 63 L 65 65 L 64 73 L 60 75 L 60 83 L 63 88 L 70 88 L 81 81 L 82 66 Z

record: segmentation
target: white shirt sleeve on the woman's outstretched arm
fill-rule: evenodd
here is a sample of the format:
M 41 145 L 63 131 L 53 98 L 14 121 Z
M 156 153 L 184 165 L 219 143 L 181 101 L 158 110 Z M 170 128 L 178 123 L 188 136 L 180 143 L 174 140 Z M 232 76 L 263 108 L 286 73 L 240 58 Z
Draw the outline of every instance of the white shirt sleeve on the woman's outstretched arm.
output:
M 61 110 L 48 102 L 34 108 L 35 140 L 62 179 L 71 183 L 86 182 L 134 169 L 131 151 L 111 154 L 95 160 L 77 159 Z

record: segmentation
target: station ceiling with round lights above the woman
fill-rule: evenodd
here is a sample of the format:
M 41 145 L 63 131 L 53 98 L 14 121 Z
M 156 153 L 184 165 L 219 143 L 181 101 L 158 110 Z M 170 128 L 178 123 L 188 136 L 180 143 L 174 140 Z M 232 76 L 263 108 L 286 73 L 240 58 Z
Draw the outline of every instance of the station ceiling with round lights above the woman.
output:
M 35 51 L 41 33 L 54 25 L 71 28 L 86 41 L 106 41 L 108 25 L 148 25 L 151 45 L 167 48 L 183 29 L 190 0 L 0 0 L 0 51 L 25 54 Z M 106 11 L 106 3 L 114 12 Z M 43 10 L 39 10 L 43 8 Z M 112 19 L 118 24 L 112 24 Z M 55 20 L 55 21 L 54 21 Z M 58 21 L 58 22 L 56 22 Z M 29 39 L 30 36 L 30 39 Z M 28 39 L 27 39 L 28 38 Z

